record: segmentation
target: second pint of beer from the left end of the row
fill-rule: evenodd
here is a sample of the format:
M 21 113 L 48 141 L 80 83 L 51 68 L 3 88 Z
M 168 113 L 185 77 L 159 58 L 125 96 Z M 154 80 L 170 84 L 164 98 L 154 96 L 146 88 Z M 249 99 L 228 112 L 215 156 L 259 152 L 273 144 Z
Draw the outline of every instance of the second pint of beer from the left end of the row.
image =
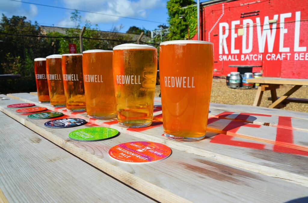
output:
M 46 57 L 46 73 L 50 104 L 54 107 L 65 106 L 61 61 L 62 56 L 59 54 Z

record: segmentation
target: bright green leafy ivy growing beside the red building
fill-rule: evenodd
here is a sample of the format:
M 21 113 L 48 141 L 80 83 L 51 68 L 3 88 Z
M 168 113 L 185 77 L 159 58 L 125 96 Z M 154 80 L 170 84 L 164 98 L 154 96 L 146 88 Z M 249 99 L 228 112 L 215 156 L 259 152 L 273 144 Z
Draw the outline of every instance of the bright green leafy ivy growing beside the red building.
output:
M 190 6 L 193 4 L 195 4 L 193 0 L 169 0 L 167 2 L 170 31 L 168 37 L 170 40 L 188 38 L 188 26 L 189 38 L 196 34 L 197 6 Z M 185 6 L 187 6 L 187 8 L 182 8 Z

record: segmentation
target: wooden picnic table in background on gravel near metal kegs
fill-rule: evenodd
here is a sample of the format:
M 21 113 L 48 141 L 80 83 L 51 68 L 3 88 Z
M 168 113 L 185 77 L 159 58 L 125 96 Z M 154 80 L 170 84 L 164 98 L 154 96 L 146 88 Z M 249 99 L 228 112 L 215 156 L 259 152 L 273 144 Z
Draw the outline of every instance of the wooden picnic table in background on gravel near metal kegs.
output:
M 297 91 L 301 86 L 308 85 L 308 79 L 287 79 L 287 78 L 253 78 L 246 79 L 247 82 L 252 83 L 260 83 L 258 86 L 256 97 L 253 101 L 253 106 L 259 106 L 262 100 L 263 92 L 270 90 L 272 104 L 269 108 L 278 107 L 281 103 L 289 103 L 289 102 L 299 102 L 299 103 L 308 103 L 307 99 L 299 99 L 299 98 L 289 98 L 291 94 Z M 283 96 L 277 97 L 276 89 L 279 88 L 280 85 L 294 85 L 288 92 L 286 92 Z M 307 95 L 306 95 L 307 96 Z

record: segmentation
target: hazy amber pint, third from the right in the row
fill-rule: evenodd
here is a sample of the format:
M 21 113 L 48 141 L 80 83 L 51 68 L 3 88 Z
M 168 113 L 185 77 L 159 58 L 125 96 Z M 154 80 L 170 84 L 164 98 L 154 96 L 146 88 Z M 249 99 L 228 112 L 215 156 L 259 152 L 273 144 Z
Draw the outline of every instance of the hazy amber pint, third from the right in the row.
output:
M 98 119 L 115 117 L 112 51 L 84 51 L 82 63 L 87 116 Z

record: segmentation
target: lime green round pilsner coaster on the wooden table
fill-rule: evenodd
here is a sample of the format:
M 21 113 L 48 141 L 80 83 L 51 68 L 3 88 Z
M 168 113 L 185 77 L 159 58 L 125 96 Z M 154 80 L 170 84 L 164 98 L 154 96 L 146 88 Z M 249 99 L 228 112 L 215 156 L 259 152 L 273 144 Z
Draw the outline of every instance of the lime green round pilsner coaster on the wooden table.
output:
M 82 128 L 74 130 L 70 132 L 68 136 L 73 140 L 92 142 L 92 141 L 107 140 L 117 136 L 118 134 L 119 131 L 113 128 L 91 127 L 91 128 Z

